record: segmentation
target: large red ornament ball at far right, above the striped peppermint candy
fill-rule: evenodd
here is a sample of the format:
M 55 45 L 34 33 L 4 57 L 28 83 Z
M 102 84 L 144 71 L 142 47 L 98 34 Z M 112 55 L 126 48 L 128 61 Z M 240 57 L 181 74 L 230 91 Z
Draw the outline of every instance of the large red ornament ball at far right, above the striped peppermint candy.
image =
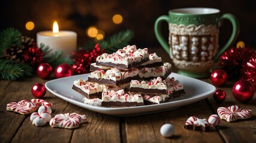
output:
M 239 80 L 234 83 L 233 96 L 239 102 L 247 102 L 254 97 L 254 86 L 247 80 Z

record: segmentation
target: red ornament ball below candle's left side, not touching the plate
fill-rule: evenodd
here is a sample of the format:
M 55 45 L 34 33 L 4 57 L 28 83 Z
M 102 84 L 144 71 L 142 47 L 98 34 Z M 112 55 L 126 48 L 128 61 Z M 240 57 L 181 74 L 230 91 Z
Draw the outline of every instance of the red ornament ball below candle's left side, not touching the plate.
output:
M 42 63 L 37 67 L 37 75 L 42 79 L 47 79 L 52 74 L 52 66 L 48 63 Z

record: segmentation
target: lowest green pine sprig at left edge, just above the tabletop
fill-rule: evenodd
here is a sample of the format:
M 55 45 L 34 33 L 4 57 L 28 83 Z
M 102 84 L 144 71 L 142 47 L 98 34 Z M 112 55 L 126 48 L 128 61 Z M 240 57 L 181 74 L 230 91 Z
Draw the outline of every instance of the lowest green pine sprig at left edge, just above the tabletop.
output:
M 23 76 L 31 76 L 32 71 L 32 67 L 28 64 L 12 60 L 0 60 L 1 80 L 16 80 Z

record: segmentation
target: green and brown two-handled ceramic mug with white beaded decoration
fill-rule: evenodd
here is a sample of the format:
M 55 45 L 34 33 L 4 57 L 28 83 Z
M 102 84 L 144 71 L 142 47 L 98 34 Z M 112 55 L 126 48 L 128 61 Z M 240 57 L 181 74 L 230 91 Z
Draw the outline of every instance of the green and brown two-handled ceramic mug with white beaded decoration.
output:
M 213 64 L 236 40 L 239 34 L 236 17 L 219 13 L 215 8 L 179 8 L 156 19 L 156 38 L 170 54 L 178 73 L 195 78 L 209 77 Z M 231 22 L 233 31 L 227 43 L 219 48 L 219 25 L 224 19 Z M 161 33 L 163 21 L 169 24 L 168 43 Z

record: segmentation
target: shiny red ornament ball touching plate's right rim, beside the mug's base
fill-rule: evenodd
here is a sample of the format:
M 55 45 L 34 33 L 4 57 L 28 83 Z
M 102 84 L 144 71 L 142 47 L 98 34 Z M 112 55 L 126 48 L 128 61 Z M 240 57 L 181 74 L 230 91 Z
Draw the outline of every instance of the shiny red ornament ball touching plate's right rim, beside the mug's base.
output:
M 222 86 L 227 82 L 227 73 L 222 69 L 216 69 L 210 74 L 210 79 L 215 86 Z

